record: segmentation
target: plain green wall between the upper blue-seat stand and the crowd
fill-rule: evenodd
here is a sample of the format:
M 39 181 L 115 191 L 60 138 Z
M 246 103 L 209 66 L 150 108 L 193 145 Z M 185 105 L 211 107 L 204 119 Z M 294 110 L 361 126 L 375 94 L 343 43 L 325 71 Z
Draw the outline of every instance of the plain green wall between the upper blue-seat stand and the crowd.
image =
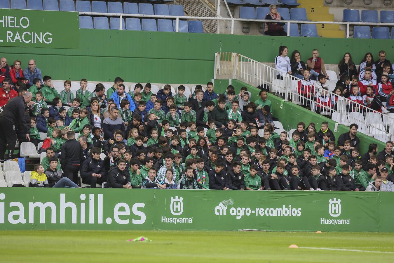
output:
M 313 48 L 320 49 L 325 63 L 338 63 L 350 51 L 356 63 L 364 54 L 381 49 L 393 60 L 394 43 L 384 39 L 336 39 L 269 37 L 259 35 L 192 34 L 81 29 L 79 49 L 2 47 L 9 63 L 37 61 L 43 74 L 54 79 L 87 78 L 112 81 L 121 76 L 126 82 L 206 83 L 213 78 L 214 53 L 238 52 L 261 62 L 273 62 L 280 45 L 289 53 L 297 49 L 302 59 Z M 71 39 L 78 37 L 69 36 Z M 389 43 L 389 45 L 388 45 Z

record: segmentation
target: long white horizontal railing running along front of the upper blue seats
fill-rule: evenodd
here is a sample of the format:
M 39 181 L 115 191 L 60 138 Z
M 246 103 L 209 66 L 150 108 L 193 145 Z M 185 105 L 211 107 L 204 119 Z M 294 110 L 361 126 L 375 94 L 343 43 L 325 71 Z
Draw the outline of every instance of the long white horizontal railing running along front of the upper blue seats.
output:
M 95 12 L 78 12 L 80 15 L 100 15 L 107 17 L 119 17 L 119 29 L 123 30 L 122 20 L 124 17 L 141 17 L 141 18 L 168 18 L 176 20 L 175 32 L 179 32 L 179 19 L 192 19 L 192 20 L 221 20 L 230 21 L 230 34 L 234 34 L 234 21 L 242 22 L 272 22 L 266 19 L 241 19 L 234 17 L 189 17 L 189 16 L 176 16 L 176 15 L 139 15 L 139 14 L 122 14 L 122 13 L 95 13 Z M 365 23 L 365 22 L 333 22 L 333 21 L 300 21 L 300 20 L 281 20 L 281 23 L 286 23 L 287 35 L 290 36 L 290 23 L 291 24 L 344 24 L 346 25 L 346 37 L 349 38 L 350 25 L 356 26 L 394 26 L 394 23 Z M 220 26 L 217 26 L 217 34 L 220 33 Z

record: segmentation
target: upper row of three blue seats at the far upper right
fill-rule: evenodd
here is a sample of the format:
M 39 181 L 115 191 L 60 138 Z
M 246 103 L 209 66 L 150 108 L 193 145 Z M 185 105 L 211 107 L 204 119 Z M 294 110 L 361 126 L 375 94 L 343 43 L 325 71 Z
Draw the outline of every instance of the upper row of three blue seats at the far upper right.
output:
M 344 9 L 342 21 L 344 22 L 368 22 L 368 23 L 379 23 L 379 17 L 377 10 L 361 10 L 357 9 Z M 380 11 L 380 22 L 381 23 L 394 23 L 394 11 L 381 10 Z

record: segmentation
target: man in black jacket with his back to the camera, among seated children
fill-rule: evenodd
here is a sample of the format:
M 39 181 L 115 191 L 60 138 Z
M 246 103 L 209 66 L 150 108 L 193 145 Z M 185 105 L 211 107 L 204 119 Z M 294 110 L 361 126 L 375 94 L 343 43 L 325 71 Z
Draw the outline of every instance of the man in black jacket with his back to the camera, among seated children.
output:
M 67 132 L 67 141 L 61 145 L 60 164 L 63 177 L 78 184 L 78 170 L 83 159 L 81 144 L 75 140 L 74 131 Z

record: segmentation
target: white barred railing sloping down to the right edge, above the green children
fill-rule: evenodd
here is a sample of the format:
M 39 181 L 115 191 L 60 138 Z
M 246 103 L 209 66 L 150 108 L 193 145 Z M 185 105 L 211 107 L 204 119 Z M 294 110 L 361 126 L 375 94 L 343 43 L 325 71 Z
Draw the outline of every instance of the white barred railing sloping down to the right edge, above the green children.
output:
M 310 85 L 310 95 L 301 90 L 299 93 L 301 79 L 237 53 L 215 53 L 214 78 L 237 79 L 255 87 L 266 85 L 271 93 L 285 101 L 310 107 L 313 112 L 328 118 L 331 116 L 339 124 L 349 126 L 357 123 L 360 132 L 382 141 L 387 141 L 394 132 L 394 113 L 381 114 L 331 91 L 323 91 L 327 93 L 330 103 L 319 104 L 317 98 L 322 88 Z

